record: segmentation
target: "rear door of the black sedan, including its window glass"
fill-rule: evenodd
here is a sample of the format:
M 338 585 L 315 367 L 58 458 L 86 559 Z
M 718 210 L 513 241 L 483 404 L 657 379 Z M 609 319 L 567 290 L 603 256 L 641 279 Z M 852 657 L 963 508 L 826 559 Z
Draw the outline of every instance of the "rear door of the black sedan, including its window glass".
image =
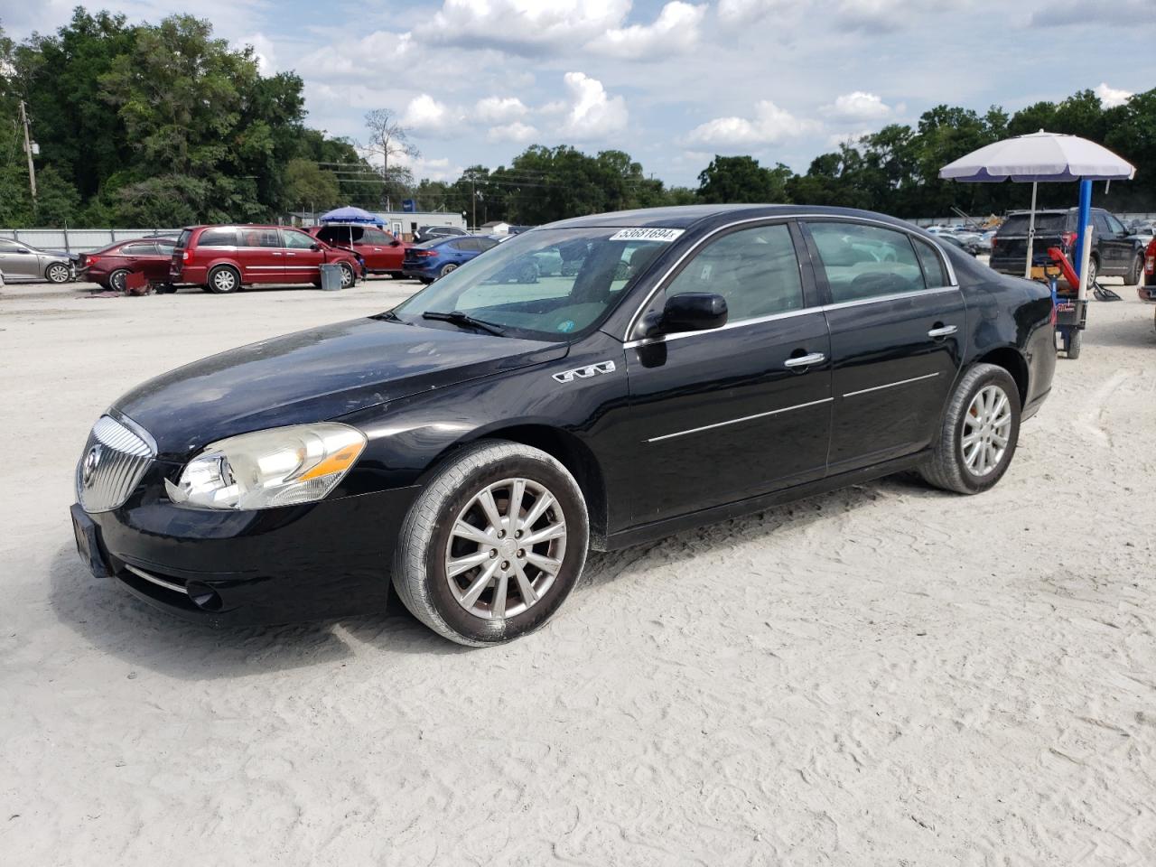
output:
M 939 432 L 965 310 L 940 253 L 899 229 L 808 221 L 831 329 L 831 474 L 917 452 Z

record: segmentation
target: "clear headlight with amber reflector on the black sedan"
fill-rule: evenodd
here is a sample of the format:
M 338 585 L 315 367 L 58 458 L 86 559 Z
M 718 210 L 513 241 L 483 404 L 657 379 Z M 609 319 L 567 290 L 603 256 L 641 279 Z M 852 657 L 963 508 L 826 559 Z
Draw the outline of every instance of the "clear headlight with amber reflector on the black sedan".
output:
M 334 422 L 297 424 L 221 439 L 188 461 L 173 503 L 203 509 L 272 509 L 320 499 L 357 461 L 365 435 Z

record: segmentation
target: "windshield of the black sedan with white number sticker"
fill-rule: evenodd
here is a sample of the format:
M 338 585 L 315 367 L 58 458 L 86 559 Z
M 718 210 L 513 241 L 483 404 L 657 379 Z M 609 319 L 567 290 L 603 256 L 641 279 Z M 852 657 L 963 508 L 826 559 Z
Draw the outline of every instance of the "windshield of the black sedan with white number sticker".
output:
M 595 328 L 631 281 L 681 235 L 661 229 L 639 239 L 639 231 L 525 232 L 446 274 L 393 312 L 427 324 L 423 313 L 460 311 L 512 336 L 571 340 Z

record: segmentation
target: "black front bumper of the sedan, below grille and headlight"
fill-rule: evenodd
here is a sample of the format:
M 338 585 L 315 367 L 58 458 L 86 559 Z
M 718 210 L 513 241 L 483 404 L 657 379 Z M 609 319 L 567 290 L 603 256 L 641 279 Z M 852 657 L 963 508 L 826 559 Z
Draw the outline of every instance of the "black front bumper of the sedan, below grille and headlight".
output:
M 134 495 L 72 507 L 81 558 L 143 601 L 214 625 L 289 623 L 385 609 L 398 529 L 418 488 L 252 512 Z

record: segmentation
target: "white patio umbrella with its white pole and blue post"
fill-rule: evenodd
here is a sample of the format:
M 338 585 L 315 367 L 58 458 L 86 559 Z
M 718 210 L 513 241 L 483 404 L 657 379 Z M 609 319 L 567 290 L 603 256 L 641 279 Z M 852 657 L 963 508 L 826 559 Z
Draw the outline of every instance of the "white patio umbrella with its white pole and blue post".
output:
M 1025 277 L 1031 276 L 1031 253 L 1036 239 L 1036 188 L 1039 181 L 1131 180 L 1135 173 L 1136 166 L 1094 141 L 1043 129 L 979 148 L 940 169 L 941 178 L 965 183 L 999 183 L 1008 178 L 1020 184 L 1031 183 Z M 1088 190 L 1087 205 L 1090 205 L 1090 184 Z M 1082 245 L 1088 223 L 1083 188 L 1080 199 L 1077 244 Z M 1077 261 L 1076 267 L 1082 274 L 1082 262 Z

